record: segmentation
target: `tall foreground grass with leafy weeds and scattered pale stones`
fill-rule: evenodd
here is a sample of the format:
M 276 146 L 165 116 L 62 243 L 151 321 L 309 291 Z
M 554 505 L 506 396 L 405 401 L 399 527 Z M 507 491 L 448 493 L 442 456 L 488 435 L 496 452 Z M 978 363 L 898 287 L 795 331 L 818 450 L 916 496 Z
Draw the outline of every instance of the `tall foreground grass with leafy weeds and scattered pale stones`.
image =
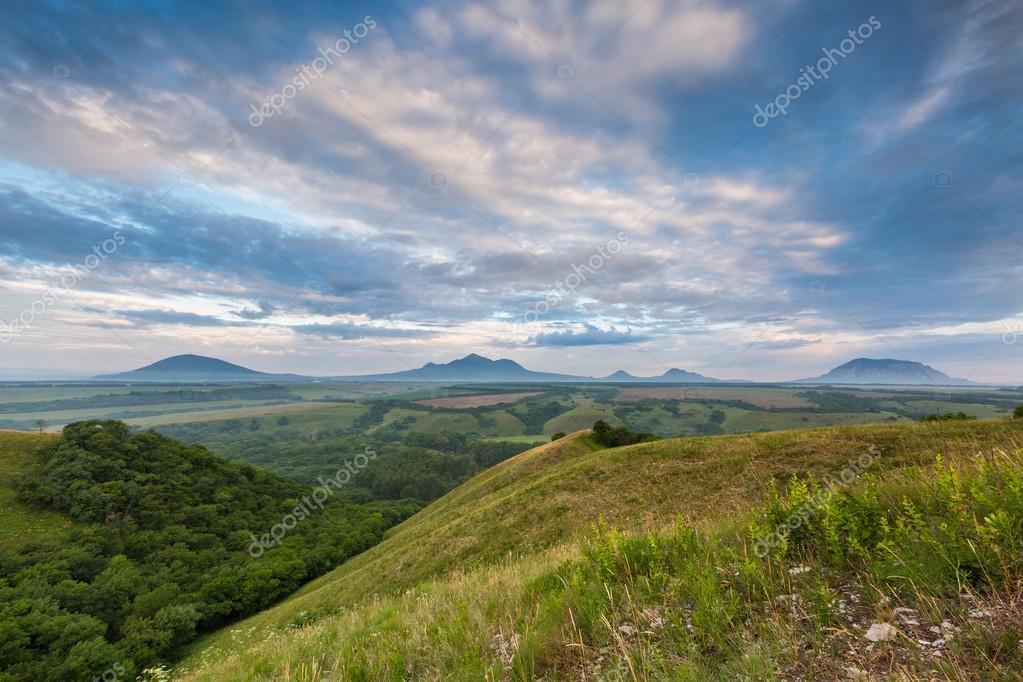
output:
M 1020 679 L 1021 541 L 1020 454 L 938 457 L 830 495 L 797 479 L 745 517 L 597 524 L 576 547 L 376 599 L 187 677 Z M 897 634 L 871 642 L 875 623 Z

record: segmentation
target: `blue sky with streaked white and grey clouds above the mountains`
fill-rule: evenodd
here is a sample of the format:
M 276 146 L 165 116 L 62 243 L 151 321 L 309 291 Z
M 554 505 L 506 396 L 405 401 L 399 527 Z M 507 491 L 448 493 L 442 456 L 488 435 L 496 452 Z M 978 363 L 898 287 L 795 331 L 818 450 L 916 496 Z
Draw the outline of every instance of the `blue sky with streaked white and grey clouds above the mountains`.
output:
M 1018 0 L 13 0 L 0 84 L 8 378 L 1023 382 Z

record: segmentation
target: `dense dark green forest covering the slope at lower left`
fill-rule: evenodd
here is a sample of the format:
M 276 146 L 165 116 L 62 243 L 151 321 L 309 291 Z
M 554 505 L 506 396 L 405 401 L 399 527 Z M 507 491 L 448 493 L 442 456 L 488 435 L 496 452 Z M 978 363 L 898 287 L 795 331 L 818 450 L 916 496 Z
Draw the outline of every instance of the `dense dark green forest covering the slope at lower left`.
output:
M 132 679 L 376 544 L 420 506 L 332 492 L 311 503 L 309 493 L 119 421 L 66 426 L 18 495 L 75 522 L 0 551 L 0 680 Z M 285 537 L 253 551 L 281 524 Z

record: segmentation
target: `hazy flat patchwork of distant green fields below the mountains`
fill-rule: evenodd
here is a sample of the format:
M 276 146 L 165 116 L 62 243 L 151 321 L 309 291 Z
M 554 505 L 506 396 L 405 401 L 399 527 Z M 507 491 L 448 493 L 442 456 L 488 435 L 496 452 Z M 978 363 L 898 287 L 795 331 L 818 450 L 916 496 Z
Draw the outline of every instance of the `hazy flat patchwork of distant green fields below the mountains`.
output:
M 542 392 L 515 404 L 477 408 L 431 407 L 416 401 L 492 393 Z M 172 400 L 168 400 L 172 398 Z M 126 404 L 127 403 L 127 404 Z M 585 428 L 596 419 L 661 436 L 737 434 L 779 428 L 915 420 L 965 412 L 980 418 L 1009 414 L 1023 392 L 983 388 L 803 388 L 776 385 L 440 385 L 422 383 L 294 383 L 244 385 L 0 385 L 0 427 L 50 430 L 89 418 L 117 418 L 137 427 L 230 419 L 260 420 L 273 430 L 273 414 L 310 415 L 307 430 L 337 430 L 327 405 L 387 403 L 362 433 L 395 438 L 402 431 L 456 430 L 486 437 L 550 436 Z M 544 410 L 560 403 L 549 415 Z M 723 413 L 722 419 L 720 414 Z M 296 417 L 296 419 L 300 419 Z M 345 423 L 345 419 L 342 419 Z

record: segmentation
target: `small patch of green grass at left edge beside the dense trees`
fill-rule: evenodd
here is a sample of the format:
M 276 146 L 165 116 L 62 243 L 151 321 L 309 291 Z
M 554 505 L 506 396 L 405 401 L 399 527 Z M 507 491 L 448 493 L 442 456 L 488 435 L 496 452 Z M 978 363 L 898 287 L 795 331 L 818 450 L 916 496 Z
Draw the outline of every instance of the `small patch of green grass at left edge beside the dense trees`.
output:
M 39 511 L 17 501 L 13 484 L 32 466 L 38 450 L 54 437 L 0 431 L 0 549 L 16 549 L 43 537 L 59 535 L 70 519 Z

